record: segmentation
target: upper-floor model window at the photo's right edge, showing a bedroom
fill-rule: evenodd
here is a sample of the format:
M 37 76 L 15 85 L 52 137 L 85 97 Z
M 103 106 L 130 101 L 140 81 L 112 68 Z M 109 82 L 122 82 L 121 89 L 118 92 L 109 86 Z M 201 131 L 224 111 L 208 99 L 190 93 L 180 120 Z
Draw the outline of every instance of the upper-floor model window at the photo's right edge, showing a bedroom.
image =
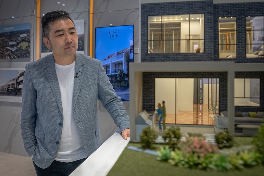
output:
M 246 17 L 246 58 L 264 58 L 264 17 Z

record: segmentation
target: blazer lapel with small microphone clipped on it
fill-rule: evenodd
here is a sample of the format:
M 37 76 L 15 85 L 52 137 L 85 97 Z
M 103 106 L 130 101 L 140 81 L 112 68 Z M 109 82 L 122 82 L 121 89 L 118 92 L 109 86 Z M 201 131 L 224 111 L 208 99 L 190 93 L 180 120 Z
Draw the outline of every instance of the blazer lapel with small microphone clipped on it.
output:
M 83 67 L 84 62 L 78 53 L 75 54 L 75 74 L 74 74 L 74 91 L 73 91 L 73 109 L 76 105 L 77 98 L 79 96 L 81 85 L 85 73 L 85 68 Z

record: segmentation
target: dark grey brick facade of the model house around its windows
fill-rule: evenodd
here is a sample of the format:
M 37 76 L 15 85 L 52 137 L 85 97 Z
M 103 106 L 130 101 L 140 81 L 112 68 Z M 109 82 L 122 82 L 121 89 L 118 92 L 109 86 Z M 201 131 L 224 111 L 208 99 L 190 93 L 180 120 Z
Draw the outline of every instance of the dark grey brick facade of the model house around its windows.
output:
M 213 4 L 213 1 L 189 1 L 141 4 L 141 62 L 168 61 L 223 61 L 218 58 L 218 17 L 237 19 L 237 58 L 228 59 L 236 63 L 263 63 L 264 58 L 246 58 L 246 17 L 264 16 L 264 2 Z M 148 54 L 148 16 L 203 13 L 205 17 L 205 52 L 179 54 Z M 224 59 L 224 61 L 226 61 Z M 155 78 L 220 78 L 219 111 L 227 110 L 226 72 L 163 72 L 143 73 L 143 109 L 153 111 L 155 107 Z M 236 110 L 264 111 L 264 72 L 238 72 L 237 78 L 260 78 L 261 107 L 236 107 Z

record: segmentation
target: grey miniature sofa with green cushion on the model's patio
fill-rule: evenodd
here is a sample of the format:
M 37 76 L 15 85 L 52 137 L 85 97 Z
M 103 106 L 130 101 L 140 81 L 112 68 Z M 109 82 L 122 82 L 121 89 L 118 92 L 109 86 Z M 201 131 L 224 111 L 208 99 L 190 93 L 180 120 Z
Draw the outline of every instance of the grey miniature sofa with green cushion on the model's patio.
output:
M 221 116 L 228 117 L 227 111 L 222 111 Z M 261 125 L 264 122 L 264 112 L 235 112 L 235 125 L 238 124 L 251 124 Z

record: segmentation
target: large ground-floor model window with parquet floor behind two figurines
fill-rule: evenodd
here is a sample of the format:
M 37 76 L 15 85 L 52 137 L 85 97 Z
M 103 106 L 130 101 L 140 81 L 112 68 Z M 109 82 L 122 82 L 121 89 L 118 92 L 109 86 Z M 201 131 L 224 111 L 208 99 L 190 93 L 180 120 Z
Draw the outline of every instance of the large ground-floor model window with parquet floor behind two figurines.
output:
M 162 101 L 168 124 L 213 125 L 219 78 L 155 78 L 155 106 Z

